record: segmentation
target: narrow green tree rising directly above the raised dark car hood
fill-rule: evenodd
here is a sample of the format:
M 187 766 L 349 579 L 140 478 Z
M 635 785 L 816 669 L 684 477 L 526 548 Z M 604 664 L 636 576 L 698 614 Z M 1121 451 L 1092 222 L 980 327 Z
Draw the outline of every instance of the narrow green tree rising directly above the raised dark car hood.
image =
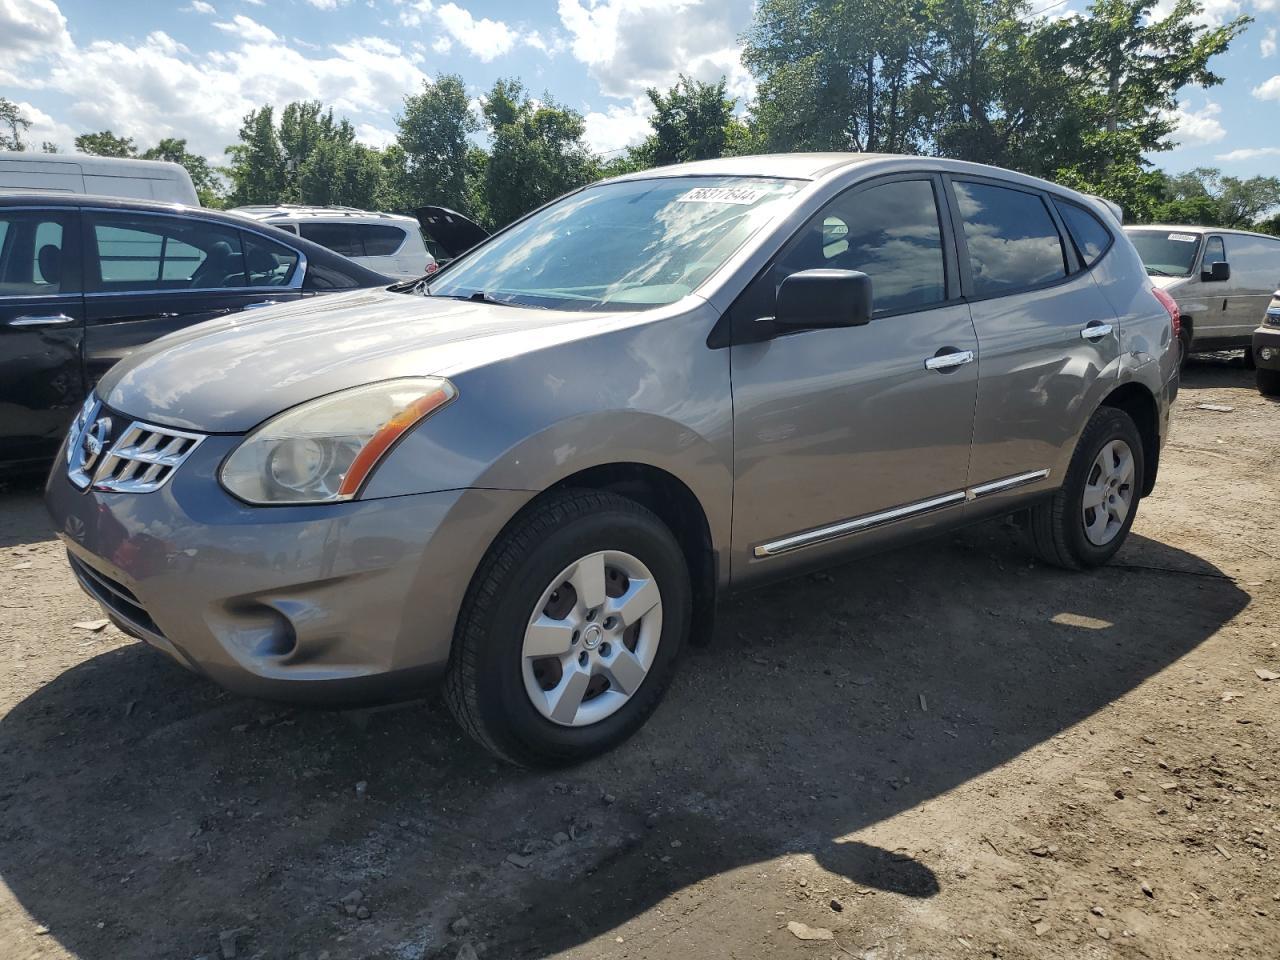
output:
M 408 206 L 439 204 L 476 214 L 468 182 L 470 137 L 480 129 L 462 78 L 444 73 L 404 97 L 396 118 L 397 142 L 403 151 L 402 193 Z

